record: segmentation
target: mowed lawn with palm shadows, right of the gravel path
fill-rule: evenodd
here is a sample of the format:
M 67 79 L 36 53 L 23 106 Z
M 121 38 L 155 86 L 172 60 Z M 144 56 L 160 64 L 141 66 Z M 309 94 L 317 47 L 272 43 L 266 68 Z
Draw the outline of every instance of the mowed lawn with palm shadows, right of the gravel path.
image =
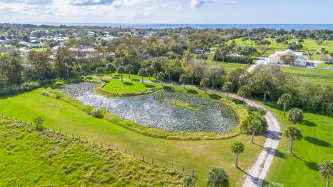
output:
M 275 104 L 266 104 L 284 129 L 291 126 L 283 111 Z M 289 139 L 283 137 L 278 147 L 273 165 L 268 171 L 266 181 L 275 181 L 285 187 L 325 186 L 326 180 L 317 171 L 318 164 L 333 161 L 333 118 L 313 113 L 305 113 L 301 129 L 303 139 L 296 140 L 293 152 L 289 154 Z

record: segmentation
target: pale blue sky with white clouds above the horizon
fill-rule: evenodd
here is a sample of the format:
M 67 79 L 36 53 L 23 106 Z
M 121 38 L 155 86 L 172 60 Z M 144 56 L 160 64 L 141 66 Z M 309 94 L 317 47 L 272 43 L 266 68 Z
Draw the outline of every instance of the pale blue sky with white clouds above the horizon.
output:
M 0 22 L 332 24 L 332 7 L 332 0 L 0 0 Z

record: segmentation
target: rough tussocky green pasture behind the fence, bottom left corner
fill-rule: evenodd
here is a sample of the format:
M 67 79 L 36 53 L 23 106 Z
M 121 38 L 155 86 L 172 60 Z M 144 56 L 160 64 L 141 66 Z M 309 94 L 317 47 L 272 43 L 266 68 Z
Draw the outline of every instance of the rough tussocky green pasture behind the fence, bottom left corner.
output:
M 0 119 L 1 186 L 184 186 L 185 174 Z

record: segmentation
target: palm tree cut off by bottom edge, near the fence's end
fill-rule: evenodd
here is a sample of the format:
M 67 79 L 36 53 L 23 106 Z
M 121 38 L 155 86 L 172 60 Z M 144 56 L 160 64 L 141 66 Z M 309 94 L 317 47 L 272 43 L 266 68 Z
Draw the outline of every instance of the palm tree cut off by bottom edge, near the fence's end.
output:
M 228 187 L 228 173 L 219 167 L 214 167 L 208 172 L 207 186 L 210 187 Z

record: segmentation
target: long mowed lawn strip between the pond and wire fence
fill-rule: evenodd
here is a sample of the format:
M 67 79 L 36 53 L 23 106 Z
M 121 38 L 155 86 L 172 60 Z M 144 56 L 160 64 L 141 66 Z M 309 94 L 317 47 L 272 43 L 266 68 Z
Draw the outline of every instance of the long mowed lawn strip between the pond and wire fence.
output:
M 41 88 L 42 89 L 42 88 Z M 228 171 L 230 186 L 241 186 L 250 165 L 255 163 L 262 147 L 250 143 L 250 136 L 240 135 L 227 140 L 164 140 L 151 138 L 117 124 L 100 120 L 87 115 L 80 109 L 65 101 L 40 95 L 40 90 L 33 90 L 21 95 L 0 99 L 0 113 L 32 122 L 33 117 L 45 118 L 45 127 L 87 138 L 89 142 L 114 145 L 119 149 L 135 152 L 137 156 L 145 155 L 154 158 L 155 162 L 164 161 L 171 167 L 184 165 L 193 169 L 198 177 L 197 186 L 205 186 L 207 172 L 213 166 L 219 166 Z M 124 108 L 126 110 L 126 108 Z M 230 145 L 238 140 L 245 144 L 246 149 L 239 158 L 241 170 L 234 168 L 234 154 Z M 263 145 L 266 138 L 258 136 L 255 142 Z M 150 157 L 145 157 L 149 159 Z M 178 167 L 178 170 L 182 168 Z

